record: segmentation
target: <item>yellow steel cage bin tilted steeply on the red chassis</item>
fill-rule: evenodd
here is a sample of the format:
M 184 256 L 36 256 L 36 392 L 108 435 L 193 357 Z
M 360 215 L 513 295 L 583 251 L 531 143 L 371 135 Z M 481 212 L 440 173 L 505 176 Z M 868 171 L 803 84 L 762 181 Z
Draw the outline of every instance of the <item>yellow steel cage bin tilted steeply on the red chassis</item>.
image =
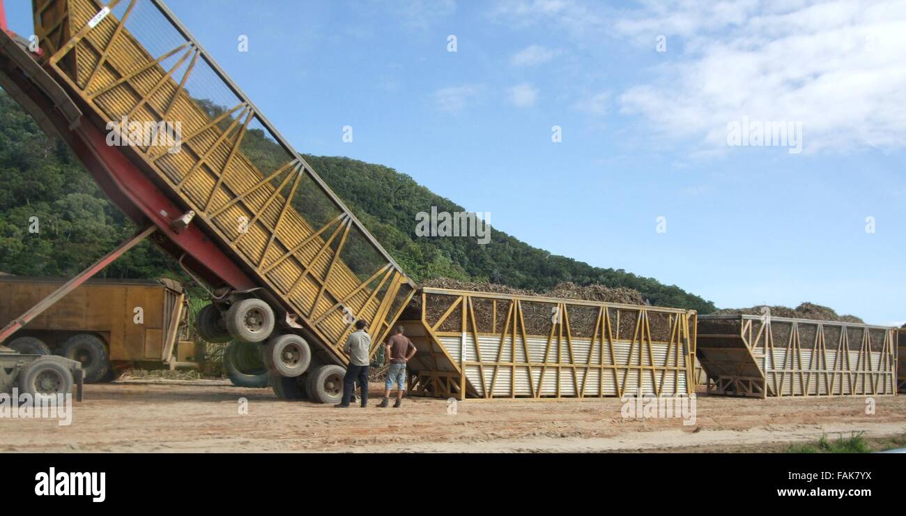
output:
M 121 135 L 136 162 L 194 210 L 290 319 L 342 363 L 355 319 L 369 321 L 376 340 L 386 335 L 414 284 L 166 5 L 33 6 L 51 70 L 92 120 Z M 157 144 L 174 127 L 179 141 Z M 151 138 L 130 141 L 133 128 Z

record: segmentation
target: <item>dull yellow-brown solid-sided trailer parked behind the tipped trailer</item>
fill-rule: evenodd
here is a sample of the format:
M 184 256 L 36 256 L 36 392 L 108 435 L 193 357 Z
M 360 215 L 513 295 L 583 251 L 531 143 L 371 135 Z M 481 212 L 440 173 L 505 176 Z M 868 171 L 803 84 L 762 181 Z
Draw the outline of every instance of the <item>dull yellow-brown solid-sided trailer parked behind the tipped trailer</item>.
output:
M 0 325 L 61 287 L 65 280 L 0 276 Z M 91 279 L 10 338 L 24 354 L 61 355 L 82 365 L 85 382 L 127 368 L 198 369 L 205 346 L 188 338 L 188 298 L 172 279 Z

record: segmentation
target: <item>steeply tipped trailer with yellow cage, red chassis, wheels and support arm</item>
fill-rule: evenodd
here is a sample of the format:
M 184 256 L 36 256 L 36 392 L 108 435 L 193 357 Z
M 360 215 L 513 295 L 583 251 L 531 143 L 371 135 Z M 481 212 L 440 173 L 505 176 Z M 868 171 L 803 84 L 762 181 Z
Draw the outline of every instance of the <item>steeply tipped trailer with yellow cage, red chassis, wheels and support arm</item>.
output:
M 32 5 L 40 49 L 0 31 L 0 86 L 140 229 L 0 342 L 151 238 L 207 285 L 200 333 L 261 343 L 281 398 L 337 400 L 353 322 L 381 341 L 410 278 L 163 2 Z

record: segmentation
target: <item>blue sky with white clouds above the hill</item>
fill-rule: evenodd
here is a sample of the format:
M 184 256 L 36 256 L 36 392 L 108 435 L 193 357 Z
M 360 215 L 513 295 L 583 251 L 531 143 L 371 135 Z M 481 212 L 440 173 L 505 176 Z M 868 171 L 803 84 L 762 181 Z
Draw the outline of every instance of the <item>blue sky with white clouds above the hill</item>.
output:
M 28 4 L 6 7 L 20 34 Z M 902 0 L 169 6 L 299 151 L 390 166 L 718 307 L 906 321 Z M 801 122 L 802 152 L 729 146 L 743 117 Z

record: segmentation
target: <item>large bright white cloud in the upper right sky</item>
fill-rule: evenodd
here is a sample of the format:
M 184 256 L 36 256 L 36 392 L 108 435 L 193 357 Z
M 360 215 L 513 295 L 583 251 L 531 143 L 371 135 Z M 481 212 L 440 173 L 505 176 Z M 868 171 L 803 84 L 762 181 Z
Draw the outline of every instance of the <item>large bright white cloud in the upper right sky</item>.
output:
M 652 49 L 655 34 L 683 36 L 680 47 L 668 35 L 668 53 L 684 50 L 623 92 L 622 112 L 706 149 L 727 151 L 728 123 L 744 116 L 802 122 L 806 152 L 906 146 L 906 3 L 739 1 L 720 10 L 652 4 L 615 24 Z

